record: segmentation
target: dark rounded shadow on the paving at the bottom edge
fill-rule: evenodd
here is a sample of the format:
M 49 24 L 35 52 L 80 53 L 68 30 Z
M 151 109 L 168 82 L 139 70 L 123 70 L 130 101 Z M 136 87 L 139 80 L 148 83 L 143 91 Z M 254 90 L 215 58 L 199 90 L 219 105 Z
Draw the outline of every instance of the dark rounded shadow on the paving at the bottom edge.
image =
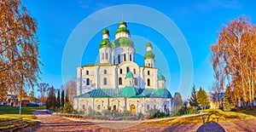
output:
M 222 126 L 220 126 L 218 123 L 204 123 L 196 130 L 196 132 L 205 132 L 205 131 L 225 132 L 225 129 Z

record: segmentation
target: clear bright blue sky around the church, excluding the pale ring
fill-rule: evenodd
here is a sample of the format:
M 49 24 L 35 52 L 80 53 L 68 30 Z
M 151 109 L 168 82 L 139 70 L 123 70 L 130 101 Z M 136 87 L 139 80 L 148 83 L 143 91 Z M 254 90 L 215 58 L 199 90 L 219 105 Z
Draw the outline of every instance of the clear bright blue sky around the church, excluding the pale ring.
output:
M 189 45 L 194 72 L 192 83 L 195 83 L 196 88 L 201 86 L 204 89 L 208 89 L 214 80 L 212 65 L 209 60 L 211 56 L 210 45 L 216 42 L 216 36 L 221 27 L 242 14 L 249 16 L 252 23 L 256 23 L 256 12 L 253 7 L 255 5 L 254 1 L 201 0 L 191 2 L 186 0 L 165 0 L 154 2 L 131 0 L 128 2 L 112 0 L 23 0 L 22 2 L 30 10 L 32 17 L 38 20 L 39 51 L 41 60 L 44 63 L 44 66 L 41 66 L 42 80 L 40 82 L 49 83 L 57 89 L 62 84 L 61 60 L 68 37 L 82 20 L 101 9 L 119 4 L 138 4 L 166 14 L 183 33 Z M 119 20 L 123 17 L 125 20 L 125 16 L 117 15 L 116 17 Z M 116 21 L 116 23 L 119 23 L 119 21 Z M 114 33 L 117 26 L 117 24 L 109 26 L 110 33 Z M 167 89 L 170 89 L 173 95 L 179 87 L 180 66 L 172 46 L 165 46 L 163 43 L 167 43 L 166 40 L 159 33 L 154 32 L 148 27 L 128 23 L 128 28 L 131 31 L 131 38 L 132 35 L 147 39 L 149 36 L 150 41 L 154 43 L 154 51 L 157 52 L 157 49 L 163 50 L 163 55 L 166 55 L 166 60 L 170 67 L 167 71 L 169 75 L 165 70 L 162 70 L 162 72 L 164 75 L 168 75 L 166 77 L 169 79 Z M 110 39 L 113 39 L 113 35 Z M 82 64 L 95 63 L 98 43 L 101 40 L 101 32 L 96 33 L 88 47 L 84 50 Z M 143 57 L 141 55 L 137 55 L 136 60 L 140 65 L 143 65 Z M 159 67 L 161 68 L 161 66 Z M 75 67 L 71 71 L 70 77 L 74 78 Z M 190 88 L 188 88 L 189 90 Z

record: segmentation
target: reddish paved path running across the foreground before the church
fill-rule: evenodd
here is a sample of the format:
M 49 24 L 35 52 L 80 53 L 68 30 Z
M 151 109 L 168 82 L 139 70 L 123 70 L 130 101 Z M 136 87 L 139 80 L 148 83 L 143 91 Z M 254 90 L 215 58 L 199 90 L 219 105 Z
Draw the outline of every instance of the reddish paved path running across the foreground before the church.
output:
M 34 114 L 41 121 L 38 125 L 23 131 L 256 131 L 256 119 L 245 119 L 225 123 L 182 124 L 182 125 L 152 125 L 141 123 L 91 123 L 89 121 L 69 120 L 52 116 L 45 111 L 36 111 Z M 114 129 L 115 128 L 115 129 Z

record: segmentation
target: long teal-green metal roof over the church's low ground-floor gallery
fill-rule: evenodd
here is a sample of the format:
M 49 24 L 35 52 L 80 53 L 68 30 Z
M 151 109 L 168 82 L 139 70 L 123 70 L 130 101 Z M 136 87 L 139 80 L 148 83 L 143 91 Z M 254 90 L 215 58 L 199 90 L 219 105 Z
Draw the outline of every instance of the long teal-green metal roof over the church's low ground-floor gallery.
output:
M 126 86 L 124 89 L 93 89 L 75 98 L 172 98 L 168 89 L 136 89 Z

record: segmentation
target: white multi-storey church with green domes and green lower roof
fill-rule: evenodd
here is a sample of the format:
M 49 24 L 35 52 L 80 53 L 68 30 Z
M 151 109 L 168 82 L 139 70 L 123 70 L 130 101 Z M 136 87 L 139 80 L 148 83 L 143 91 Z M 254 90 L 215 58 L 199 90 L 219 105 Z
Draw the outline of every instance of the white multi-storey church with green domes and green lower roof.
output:
M 144 66 L 138 66 L 126 22 L 119 22 L 113 42 L 108 37 L 109 31 L 104 29 L 99 44 L 99 63 L 77 67 L 74 109 L 78 112 L 108 109 L 132 114 L 148 114 L 153 109 L 173 112 L 166 78 L 154 67 L 152 43 L 145 43 Z

